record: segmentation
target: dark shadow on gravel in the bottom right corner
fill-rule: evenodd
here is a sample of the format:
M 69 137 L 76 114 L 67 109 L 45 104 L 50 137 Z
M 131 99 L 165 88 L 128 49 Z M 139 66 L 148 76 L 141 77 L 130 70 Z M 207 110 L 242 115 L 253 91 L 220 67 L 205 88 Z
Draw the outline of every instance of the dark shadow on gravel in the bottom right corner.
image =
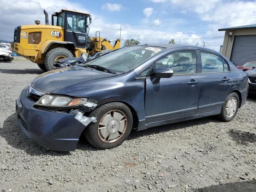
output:
M 255 191 L 256 191 L 255 180 L 212 185 L 209 187 L 201 188 L 200 190 L 193 190 L 193 192 L 255 192 Z

